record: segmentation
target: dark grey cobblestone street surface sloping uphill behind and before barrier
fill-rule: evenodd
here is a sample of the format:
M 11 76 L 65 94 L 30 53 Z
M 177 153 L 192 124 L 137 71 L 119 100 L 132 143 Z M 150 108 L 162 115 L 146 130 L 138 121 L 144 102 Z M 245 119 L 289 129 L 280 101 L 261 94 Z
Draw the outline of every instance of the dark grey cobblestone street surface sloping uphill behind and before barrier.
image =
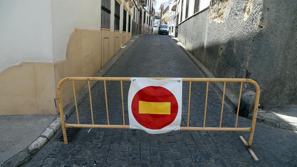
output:
M 174 40 L 161 35 L 141 37 L 106 76 L 204 77 Z M 129 84 L 123 82 L 126 125 L 129 123 Z M 181 126 L 187 122 L 188 89 L 189 83 L 184 82 Z M 119 81 L 107 81 L 110 124 L 123 123 L 120 90 Z M 206 83 L 192 83 L 190 126 L 203 124 L 205 93 Z M 95 124 L 107 124 L 103 82 L 92 90 L 91 95 Z M 210 85 L 206 127 L 219 126 L 221 101 L 222 97 Z M 78 111 L 80 123 L 91 124 L 89 97 L 79 105 Z M 234 127 L 235 118 L 231 108 L 224 105 L 222 127 Z M 76 123 L 75 112 L 67 122 Z M 250 119 L 238 118 L 238 127 L 250 125 Z M 297 166 L 296 131 L 257 123 L 252 149 L 260 159 L 258 163 L 252 159 L 239 135 L 248 140 L 248 132 L 148 134 L 131 129 L 83 128 L 74 143 L 64 145 L 54 141 L 54 137 L 23 166 Z

